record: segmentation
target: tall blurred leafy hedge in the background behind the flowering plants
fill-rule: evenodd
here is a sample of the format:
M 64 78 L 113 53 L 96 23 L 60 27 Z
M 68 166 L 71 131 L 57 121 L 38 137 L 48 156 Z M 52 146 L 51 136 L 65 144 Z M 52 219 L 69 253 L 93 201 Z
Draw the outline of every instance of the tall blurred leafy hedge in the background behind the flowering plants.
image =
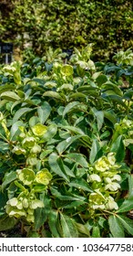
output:
M 102 60 L 133 46 L 131 0 L 1 0 L 0 7 L 1 40 L 14 41 L 18 50 L 29 42 L 37 56 L 49 46 L 81 48 L 91 42 L 94 58 Z

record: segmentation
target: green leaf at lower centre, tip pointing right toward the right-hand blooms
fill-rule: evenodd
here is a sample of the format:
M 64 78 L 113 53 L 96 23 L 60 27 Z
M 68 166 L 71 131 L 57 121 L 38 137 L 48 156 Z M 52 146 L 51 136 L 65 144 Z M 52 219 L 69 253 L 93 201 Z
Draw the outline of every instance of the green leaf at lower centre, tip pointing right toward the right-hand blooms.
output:
M 87 192 L 93 192 L 92 188 L 88 186 L 87 181 L 83 178 L 73 179 L 69 184 L 69 187 L 77 187 Z

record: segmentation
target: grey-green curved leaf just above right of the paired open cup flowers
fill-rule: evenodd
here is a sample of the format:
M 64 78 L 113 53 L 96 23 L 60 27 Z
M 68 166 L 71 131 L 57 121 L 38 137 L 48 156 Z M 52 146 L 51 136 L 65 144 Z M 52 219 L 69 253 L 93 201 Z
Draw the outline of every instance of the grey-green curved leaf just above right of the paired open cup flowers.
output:
M 55 153 L 49 155 L 48 157 L 48 163 L 50 165 L 50 168 L 52 172 L 54 172 L 58 176 L 62 176 L 65 180 L 68 181 L 68 177 L 64 172 L 64 168 L 62 165 L 58 164 L 59 157 Z

